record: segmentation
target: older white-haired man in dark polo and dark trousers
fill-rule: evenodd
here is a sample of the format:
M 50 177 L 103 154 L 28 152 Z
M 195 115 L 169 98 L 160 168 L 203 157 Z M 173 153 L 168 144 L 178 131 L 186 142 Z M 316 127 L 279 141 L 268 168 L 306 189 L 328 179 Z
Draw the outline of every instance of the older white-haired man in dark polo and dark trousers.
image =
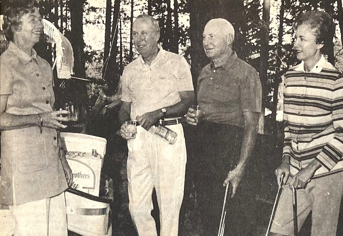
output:
M 203 235 L 218 232 L 225 187 L 232 185 L 226 235 L 251 235 L 252 196 L 246 166 L 255 145 L 261 112 L 261 82 L 256 70 L 232 50 L 233 26 L 224 19 L 210 20 L 203 32 L 203 47 L 211 63 L 198 78 L 197 98 L 202 119 L 193 109 L 187 122 L 194 127 L 193 181 Z

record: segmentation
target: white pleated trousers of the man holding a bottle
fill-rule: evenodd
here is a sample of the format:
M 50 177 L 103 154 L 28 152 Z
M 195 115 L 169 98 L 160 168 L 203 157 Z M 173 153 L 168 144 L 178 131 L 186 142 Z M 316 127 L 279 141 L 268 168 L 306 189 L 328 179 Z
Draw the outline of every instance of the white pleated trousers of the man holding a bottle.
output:
M 177 236 L 184 195 L 186 145 L 181 124 L 168 125 L 178 135 L 170 145 L 137 126 L 136 138 L 128 141 L 129 210 L 140 236 L 157 236 L 151 216 L 152 190 L 156 189 L 161 236 Z

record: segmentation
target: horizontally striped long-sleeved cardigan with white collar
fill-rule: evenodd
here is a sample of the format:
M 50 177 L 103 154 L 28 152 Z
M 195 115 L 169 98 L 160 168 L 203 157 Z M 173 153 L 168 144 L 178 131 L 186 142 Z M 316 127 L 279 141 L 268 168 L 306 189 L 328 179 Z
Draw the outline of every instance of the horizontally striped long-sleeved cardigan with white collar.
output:
M 315 176 L 332 170 L 343 155 L 343 77 L 321 56 L 306 72 L 304 62 L 285 74 L 283 154 L 295 175 L 317 159 Z

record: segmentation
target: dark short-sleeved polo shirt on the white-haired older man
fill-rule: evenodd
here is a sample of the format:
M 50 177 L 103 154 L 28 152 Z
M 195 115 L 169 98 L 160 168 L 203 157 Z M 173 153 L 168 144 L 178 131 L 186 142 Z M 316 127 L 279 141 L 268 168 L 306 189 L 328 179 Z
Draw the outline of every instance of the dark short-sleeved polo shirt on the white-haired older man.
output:
M 244 126 L 243 112 L 261 112 L 262 89 L 257 71 L 232 56 L 223 66 L 206 65 L 198 79 L 198 104 L 203 119 Z

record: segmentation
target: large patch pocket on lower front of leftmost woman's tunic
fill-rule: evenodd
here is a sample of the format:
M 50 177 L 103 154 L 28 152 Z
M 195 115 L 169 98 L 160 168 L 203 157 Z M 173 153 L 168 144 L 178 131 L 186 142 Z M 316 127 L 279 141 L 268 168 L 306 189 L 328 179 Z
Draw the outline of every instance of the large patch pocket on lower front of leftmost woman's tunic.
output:
M 39 136 L 22 139 L 16 150 L 17 169 L 22 173 L 42 170 L 48 166 L 46 142 Z

